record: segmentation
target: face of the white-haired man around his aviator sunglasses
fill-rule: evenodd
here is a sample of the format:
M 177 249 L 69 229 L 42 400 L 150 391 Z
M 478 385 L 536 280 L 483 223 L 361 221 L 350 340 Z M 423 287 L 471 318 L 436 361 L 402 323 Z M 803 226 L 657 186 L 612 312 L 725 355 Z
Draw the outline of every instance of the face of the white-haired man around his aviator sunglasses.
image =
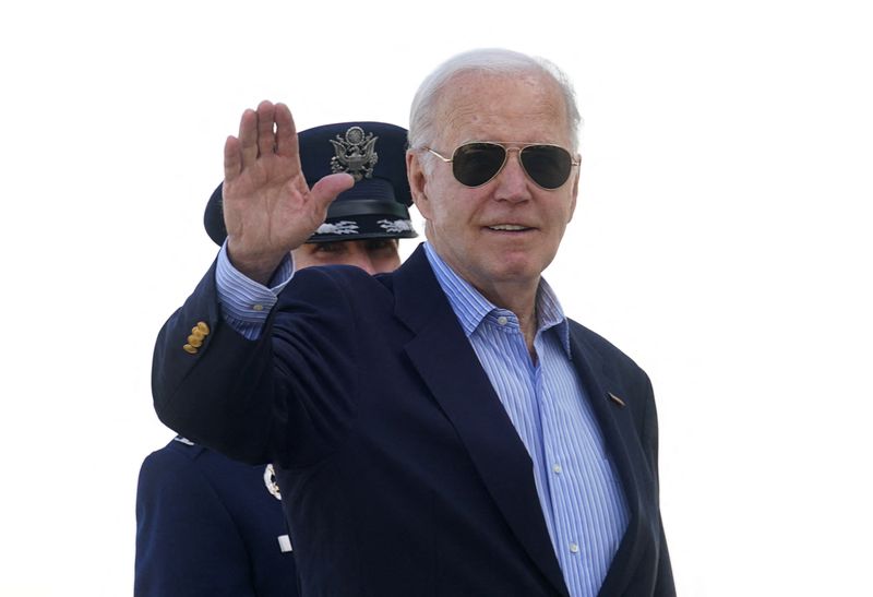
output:
M 438 114 L 442 128 L 431 147 L 446 157 L 470 141 L 573 145 L 563 97 L 541 77 L 458 75 Z M 451 164 L 435 157 L 429 170 L 422 168 L 430 157 L 410 152 L 407 165 L 428 240 L 440 256 L 487 297 L 506 284 L 537 284 L 573 215 L 578 168 L 562 187 L 545 190 L 527 178 L 518 152 L 511 151 L 494 179 L 469 188 L 455 180 Z

